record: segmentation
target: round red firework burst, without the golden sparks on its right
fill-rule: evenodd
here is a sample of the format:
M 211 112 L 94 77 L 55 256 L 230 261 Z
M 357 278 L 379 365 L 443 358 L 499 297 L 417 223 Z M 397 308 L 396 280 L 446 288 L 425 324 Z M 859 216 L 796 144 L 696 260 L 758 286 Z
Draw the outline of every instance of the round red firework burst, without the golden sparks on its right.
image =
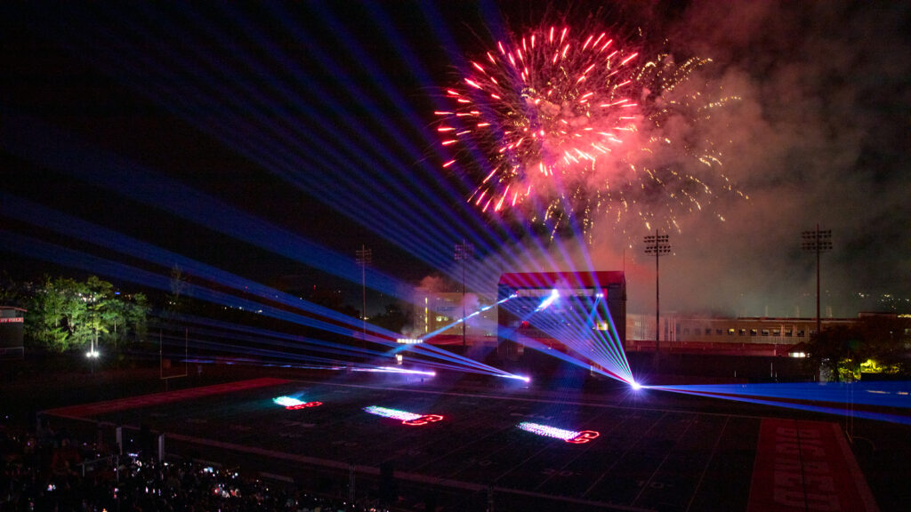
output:
M 462 83 L 446 89 L 455 108 L 436 112 L 445 147 L 486 153 L 469 201 L 499 211 L 533 193 L 545 203 L 572 194 L 635 130 L 637 56 L 604 32 L 577 39 L 549 27 L 471 62 Z

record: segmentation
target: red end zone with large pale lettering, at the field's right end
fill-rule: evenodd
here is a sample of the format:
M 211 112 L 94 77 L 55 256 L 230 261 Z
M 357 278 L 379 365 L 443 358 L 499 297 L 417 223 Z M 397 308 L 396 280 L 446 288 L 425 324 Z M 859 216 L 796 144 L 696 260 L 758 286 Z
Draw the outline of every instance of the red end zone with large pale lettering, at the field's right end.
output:
M 749 512 L 877 510 L 838 425 L 764 418 Z

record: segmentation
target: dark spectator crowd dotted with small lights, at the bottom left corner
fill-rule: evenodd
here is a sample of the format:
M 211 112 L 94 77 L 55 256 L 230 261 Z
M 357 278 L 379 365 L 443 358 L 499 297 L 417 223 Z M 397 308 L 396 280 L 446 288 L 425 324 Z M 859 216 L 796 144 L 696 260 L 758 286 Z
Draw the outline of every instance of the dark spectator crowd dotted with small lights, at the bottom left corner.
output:
M 111 455 L 50 429 L 0 425 L 0 512 L 344 511 L 383 508 L 313 497 L 200 462 L 160 462 L 148 453 Z

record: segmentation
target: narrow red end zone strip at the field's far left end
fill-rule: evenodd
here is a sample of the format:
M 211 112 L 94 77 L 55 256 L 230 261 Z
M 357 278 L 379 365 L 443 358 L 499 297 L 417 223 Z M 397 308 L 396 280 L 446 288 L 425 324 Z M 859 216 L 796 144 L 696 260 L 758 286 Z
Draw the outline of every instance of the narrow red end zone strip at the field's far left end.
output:
M 69 407 L 60 407 L 45 411 L 50 415 L 70 416 L 70 417 L 87 417 L 91 415 L 102 415 L 114 411 L 122 411 L 135 407 L 147 407 L 148 405 L 167 404 L 179 400 L 188 400 L 190 398 L 199 398 L 210 394 L 232 393 L 245 389 L 254 389 L 270 385 L 285 384 L 289 381 L 284 379 L 273 379 L 264 377 L 261 379 L 252 379 L 249 381 L 239 381 L 236 383 L 207 385 L 203 387 L 193 387 L 181 389 L 179 391 L 169 391 L 166 393 L 143 394 L 132 398 L 121 398 L 119 400 L 109 400 L 107 402 L 97 402 L 95 404 L 72 405 Z

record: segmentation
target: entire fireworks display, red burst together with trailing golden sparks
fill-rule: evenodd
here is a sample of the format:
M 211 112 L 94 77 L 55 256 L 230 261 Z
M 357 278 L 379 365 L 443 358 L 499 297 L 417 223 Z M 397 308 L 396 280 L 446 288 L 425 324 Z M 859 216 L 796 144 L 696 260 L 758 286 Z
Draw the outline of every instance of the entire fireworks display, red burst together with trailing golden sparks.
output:
M 707 62 L 646 61 L 606 32 L 577 38 L 568 28 L 500 42 L 445 91 L 454 108 L 436 112 L 437 131 L 455 154 L 444 168 L 472 169 L 479 153 L 468 201 L 515 211 L 551 237 L 573 223 L 590 237 L 603 214 L 619 225 L 635 214 L 648 229 L 661 215 L 676 226 L 680 210 L 701 210 L 717 178 L 727 181 L 711 142 L 671 137 L 681 118 L 698 124 L 730 100 L 681 92 Z

